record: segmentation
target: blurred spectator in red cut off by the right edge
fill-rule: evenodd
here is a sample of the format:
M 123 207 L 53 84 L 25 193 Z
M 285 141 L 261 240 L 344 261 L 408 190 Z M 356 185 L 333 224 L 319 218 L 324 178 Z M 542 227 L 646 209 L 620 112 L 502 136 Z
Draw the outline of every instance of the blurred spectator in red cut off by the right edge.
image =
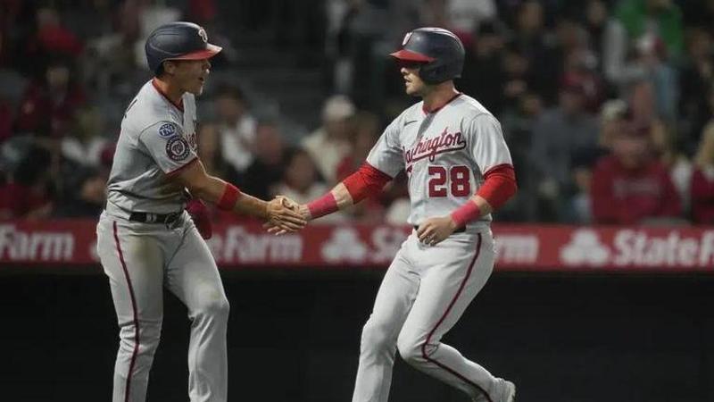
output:
M 714 101 L 714 91 L 712 101 Z M 692 173 L 692 218 L 696 223 L 714 224 L 714 120 L 702 133 Z

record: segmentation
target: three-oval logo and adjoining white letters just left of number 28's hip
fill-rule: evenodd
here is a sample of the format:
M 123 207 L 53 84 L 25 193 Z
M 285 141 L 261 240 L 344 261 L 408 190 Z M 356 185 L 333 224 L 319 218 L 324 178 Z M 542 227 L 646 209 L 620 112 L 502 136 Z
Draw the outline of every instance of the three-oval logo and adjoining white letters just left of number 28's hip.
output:
M 379 227 L 370 234 L 371 241 L 364 242 L 358 230 L 336 228 L 322 245 L 322 258 L 328 263 L 387 264 L 407 237 L 404 230 L 393 227 Z

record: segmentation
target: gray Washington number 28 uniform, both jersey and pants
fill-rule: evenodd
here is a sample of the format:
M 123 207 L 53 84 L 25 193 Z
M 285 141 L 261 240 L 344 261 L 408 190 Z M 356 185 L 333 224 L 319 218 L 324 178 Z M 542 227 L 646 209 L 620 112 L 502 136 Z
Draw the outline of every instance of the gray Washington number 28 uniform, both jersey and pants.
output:
M 406 170 L 414 225 L 452 213 L 486 172 L 511 164 L 499 122 L 473 98 L 460 94 L 432 113 L 422 107 L 419 102 L 392 121 L 367 157 L 390 176 Z M 362 330 L 353 402 L 387 401 L 397 350 L 474 401 L 512 398 L 510 382 L 441 342 L 493 271 L 490 221 L 483 216 L 436 246 L 421 243 L 416 230 L 403 242 Z

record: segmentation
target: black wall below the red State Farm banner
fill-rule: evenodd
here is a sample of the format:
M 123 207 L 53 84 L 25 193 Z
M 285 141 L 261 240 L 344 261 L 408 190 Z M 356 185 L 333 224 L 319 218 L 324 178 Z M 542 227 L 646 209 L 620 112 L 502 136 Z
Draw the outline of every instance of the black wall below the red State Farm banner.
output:
M 229 398 L 349 401 L 382 271 L 223 272 Z M 519 401 L 714 400 L 714 278 L 495 273 L 445 342 Z M 116 318 L 104 274 L 0 276 L 2 400 L 111 398 Z M 187 400 L 186 309 L 167 294 L 148 400 Z M 390 401 L 466 401 L 397 358 Z

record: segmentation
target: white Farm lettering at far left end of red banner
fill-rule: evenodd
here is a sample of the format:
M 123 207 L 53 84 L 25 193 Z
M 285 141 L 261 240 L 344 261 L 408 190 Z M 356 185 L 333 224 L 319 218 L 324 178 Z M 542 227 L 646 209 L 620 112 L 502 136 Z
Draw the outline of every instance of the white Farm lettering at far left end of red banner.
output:
M 22 231 L 15 225 L 0 225 L 0 260 L 71 261 L 74 235 L 70 232 Z

